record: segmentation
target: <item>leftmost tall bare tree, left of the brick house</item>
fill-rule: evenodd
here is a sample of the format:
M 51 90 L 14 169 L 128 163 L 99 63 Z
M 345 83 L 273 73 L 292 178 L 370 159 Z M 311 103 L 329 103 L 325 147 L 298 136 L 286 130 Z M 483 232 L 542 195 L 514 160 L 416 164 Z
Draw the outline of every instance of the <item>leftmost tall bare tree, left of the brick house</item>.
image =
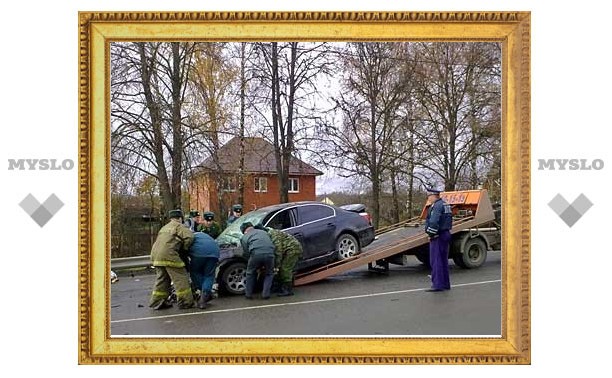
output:
M 111 161 L 155 177 L 166 209 L 181 206 L 192 51 L 192 43 L 179 42 L 111 45 Z

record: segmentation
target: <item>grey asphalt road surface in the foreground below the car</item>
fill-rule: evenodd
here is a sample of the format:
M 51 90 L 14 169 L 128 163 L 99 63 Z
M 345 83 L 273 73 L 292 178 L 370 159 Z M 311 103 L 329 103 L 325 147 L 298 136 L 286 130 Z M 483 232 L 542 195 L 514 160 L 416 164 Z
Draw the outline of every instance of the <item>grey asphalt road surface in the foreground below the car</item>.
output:
M 501 252 L 489 251 L 478 269 L 449 264 L 446 292 L 425 292 L 429 270 L 411 256 L 388 274 L 366 266 L 297 287 L 291 297 L 225 296 L 206 310 L 151 310 L 154 276 L 122 275 L 111 285 L 111 335 L 500 336 Z

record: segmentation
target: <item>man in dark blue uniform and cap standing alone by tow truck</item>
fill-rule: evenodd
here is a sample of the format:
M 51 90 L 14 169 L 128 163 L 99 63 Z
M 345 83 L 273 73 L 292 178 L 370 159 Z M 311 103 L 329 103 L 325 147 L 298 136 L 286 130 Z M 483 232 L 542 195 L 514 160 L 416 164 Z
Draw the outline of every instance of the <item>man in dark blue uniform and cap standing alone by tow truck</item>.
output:
M 425 220 L 425 232 L 429 235 L 429 263 L 431 265 L 431 289 L 427 291 L 450 290 L 448 249 L 453 214 L 450 205 L 440 198 L 439 189 L 430 187 L 426 190 L 427 200 L 431 203 Z

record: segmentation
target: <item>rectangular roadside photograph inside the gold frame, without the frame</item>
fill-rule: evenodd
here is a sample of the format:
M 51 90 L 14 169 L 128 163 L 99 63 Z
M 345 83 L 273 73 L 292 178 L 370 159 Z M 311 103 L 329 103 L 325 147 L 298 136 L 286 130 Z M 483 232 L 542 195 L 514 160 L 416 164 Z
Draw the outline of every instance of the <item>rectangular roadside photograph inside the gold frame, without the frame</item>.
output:
M 502 336 L 502 44 L 117 41 L 110 336 Z

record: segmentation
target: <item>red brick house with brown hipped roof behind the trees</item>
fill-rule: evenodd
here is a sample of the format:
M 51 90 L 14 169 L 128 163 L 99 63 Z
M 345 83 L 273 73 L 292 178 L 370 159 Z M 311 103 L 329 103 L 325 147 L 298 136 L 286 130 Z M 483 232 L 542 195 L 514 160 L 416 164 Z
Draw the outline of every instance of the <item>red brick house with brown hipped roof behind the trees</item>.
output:
M 213 211 L 218 220 L 226 219 L 231 206 L 238 203 L 239 151 L 240 138 L 235 137 L 219 148 L 218 169 L 215 169 L 212 157 L 197 168 L 189 180 L 190 209 Z M 311 165 L 292 157 L 289 166 L 289 201 L 314 201 L 316 177 L 322 174 Z M 277 204 L 279 199 L 274 146 L 263 138 L 245 137 L 244 212 Z

